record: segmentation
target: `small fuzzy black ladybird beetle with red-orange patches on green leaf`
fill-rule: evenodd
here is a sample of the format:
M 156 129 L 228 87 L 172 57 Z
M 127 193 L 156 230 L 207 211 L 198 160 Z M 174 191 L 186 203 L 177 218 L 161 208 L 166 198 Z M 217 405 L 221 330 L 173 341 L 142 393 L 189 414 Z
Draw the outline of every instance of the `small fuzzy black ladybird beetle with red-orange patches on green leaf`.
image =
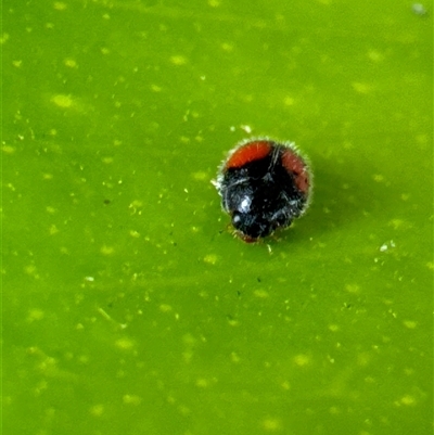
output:
M 312 175 L 294 143 L 257 138 L 229 152 L 213 183 L 235 234 L 252 243 L 289 227 L 306 212 Z

